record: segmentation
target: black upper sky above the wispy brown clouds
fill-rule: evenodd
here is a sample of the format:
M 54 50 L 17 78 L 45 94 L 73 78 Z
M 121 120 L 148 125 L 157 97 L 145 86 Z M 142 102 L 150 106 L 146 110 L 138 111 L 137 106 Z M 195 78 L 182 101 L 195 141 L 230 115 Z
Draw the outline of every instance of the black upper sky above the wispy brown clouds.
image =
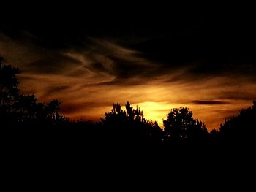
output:
M 52 49 L 83 48 L 87 36 L 116 39 L 168 64 L 206 58 L 210 70 L 219 68 L 215 60 L 237 64 L 245 58 L 246 62 L 255 58 L 255 17 L 247 9 L 132 2 L 114 6 L 17 7 L 13 15 L 6 11 L 8 15 L 1 18 L 1 28 L 14 38 L 26 31 L 35 37 L 37 45 Z

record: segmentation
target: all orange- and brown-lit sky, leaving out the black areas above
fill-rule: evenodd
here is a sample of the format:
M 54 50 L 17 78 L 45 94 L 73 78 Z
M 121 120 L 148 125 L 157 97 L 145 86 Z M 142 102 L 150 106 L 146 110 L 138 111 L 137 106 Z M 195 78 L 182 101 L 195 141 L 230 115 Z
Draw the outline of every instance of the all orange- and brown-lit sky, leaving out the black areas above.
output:
M 144 58 L 136 50 L 108 40 L 92 39 L 94 50 L 46 50 L 32 42 L 12 40 L 0 33 L 0 53 L 5 62 L 18 66 L 23 93 L 36 94 L 39 101 L 59 99 L 62 112 L 70 118 L 99 120 L 111 110 L 113 103 L 130 101 L 138 105 L 147 119 L 162 119 L 174 107 L 189 107 L 195 118 L 201 118 L 209 130 L 219 128 L 224 118 L 238 114 L 241 108 L 249 107 L 256 98 L 256 82 L 247 77 L 214 75 L 189 80 L 189 66 L 179 69 L 161 69 L 160 63 Z M 116 76 L 115 60 L 125 60 L 138 72 L 159 74 L 155 76 L 138 74 L 129 79 Z M 58 55 L 58 57 L 56 57 Z M 53 72 L 45 72 L 38 62 L 54 61 Z M 100 64 L 102 70 L 95 64 Z M 41 63 L 40 63 L 41 64 Z M 135 66 L 136 64 L 136 66 Z M 37 65 L 37 69 L 34 68 Z M 104 69 L 104 70 L 103 70 Z M 137 72 L 137 71 L 136 71 Z

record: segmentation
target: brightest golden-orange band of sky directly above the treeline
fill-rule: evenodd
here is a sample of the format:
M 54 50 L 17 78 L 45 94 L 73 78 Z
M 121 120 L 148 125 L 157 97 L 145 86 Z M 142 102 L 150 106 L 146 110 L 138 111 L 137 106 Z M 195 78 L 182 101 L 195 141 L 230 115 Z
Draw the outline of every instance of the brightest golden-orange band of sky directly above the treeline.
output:
M 195 118 L 201 118 L 206 122 L 209 129 L 219 128 L 224 118 L 238 114 L 243 107 L 249 107 L 252 101 L 244 99 L 215 99 L 222 96 L 224 90 L 236 91 L 241 89 L 241 85 L 234 87 L 225 86 L 225 83 L 232 82 L 230 79 L 213 78 L 206 82 L 176 82 L 163 83 L 162 80 L 154 80 L 146 85 L 132 85 L 125 87 L 116 87 L 115 85 L 95 85 L 84 86 L 83 80 L 74 77 L 62 76 L 39 76 L 26 79 L 26 75 L 20 74 L 21 90 L 24 93 L 36 93 L 41 101 L 49 101 L 50 99 L 60 99 L 62 101 L 63 112 L 70 118 L 85 118 L 98 120 L 103 117 L 105 112 L 112 108 L 113 103 L 121 103 L 124 105 L 130 101 L 133 106 L 138 105 L 143 110 L 147 119 L 157 120 L 162 126 L 162 119 L 166 117 L 167 112 L 174 107 L 189 107 L 194 113 Z M 61 85 L 75 85 L 72 88 L 59 90 L 47 95 L 45 90 L 49 87 Z M 222 89 L 219 90 L 219 85 Z M 247 86 L 256 90 L 256 85 L 243 85 L 244 93 L 248 91 Z M 219 101 L 218 104 L 196 104 L 196 100 Z M 193 103 L 194 102 L 194 103 Z

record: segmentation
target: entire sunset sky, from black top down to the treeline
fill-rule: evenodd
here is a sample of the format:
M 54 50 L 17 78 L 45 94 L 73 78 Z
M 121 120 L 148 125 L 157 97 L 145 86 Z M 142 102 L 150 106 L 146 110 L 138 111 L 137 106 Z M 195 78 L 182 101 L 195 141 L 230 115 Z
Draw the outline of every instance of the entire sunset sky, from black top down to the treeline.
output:
M 20 91 L 85 120 L 130 101 L 162 126 L 189 107 L 209 130 L 256 99 L 252 15 L 127 9 L 4 18 L 0 54 L 20 69 Z

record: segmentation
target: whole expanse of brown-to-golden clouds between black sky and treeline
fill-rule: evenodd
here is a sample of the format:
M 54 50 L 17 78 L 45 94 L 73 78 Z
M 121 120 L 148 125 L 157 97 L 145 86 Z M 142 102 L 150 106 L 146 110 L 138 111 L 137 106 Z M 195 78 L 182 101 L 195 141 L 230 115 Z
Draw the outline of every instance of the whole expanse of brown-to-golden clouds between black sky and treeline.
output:
M 62 112 L 71 118 L 99 119 L 113 102 L 131 101 L 159 123 L 168 110 L 187 106 L 209 128 L 218 128 L 224 117 L 236 115 L 256 98 L 253 62 L 197 60 L 192 55 L 198 47 L 183 49 L 186 39 L 178 45 L 178 40 L 165 38 L 124 43 L 118 37 L 84 37 L 74 46 L 69 41 L 63 46 L 63 39 L 60 46 L 42 45 L 48 40 L 0 33 L 0 53 L 21 69 L 22 93 L 45 102 L 59 99 Z

